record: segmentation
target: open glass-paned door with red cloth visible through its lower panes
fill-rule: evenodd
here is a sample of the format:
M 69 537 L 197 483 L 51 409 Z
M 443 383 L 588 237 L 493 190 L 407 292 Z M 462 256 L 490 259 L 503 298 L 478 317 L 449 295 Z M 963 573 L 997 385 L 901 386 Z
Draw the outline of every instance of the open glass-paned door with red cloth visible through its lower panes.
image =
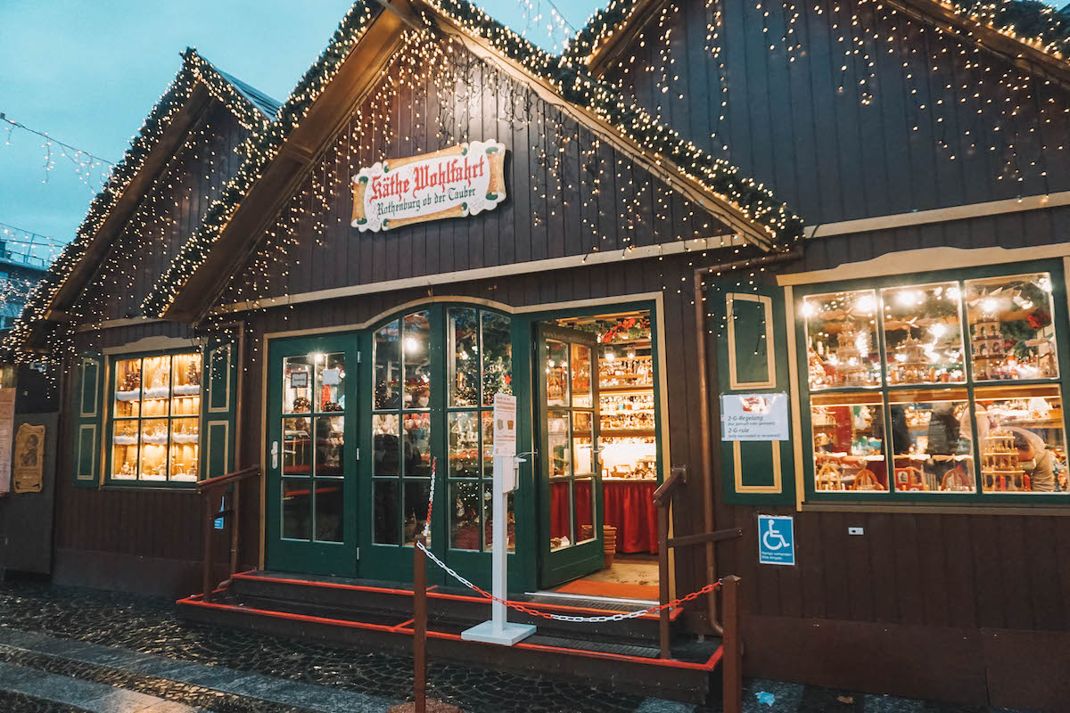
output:
M 550 587 L 602 568 L 598 375 L 594 335 L 538 325 L 542 497 L 539 584 Z

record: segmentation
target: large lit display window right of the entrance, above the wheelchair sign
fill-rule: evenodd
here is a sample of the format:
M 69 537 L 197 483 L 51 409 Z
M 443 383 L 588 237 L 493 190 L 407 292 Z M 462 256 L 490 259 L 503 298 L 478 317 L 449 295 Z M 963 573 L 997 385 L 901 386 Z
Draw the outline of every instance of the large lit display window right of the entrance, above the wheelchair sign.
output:
M 804 294 L 814 496 L 1070 493 L 1053 284 L 1031 272 Z

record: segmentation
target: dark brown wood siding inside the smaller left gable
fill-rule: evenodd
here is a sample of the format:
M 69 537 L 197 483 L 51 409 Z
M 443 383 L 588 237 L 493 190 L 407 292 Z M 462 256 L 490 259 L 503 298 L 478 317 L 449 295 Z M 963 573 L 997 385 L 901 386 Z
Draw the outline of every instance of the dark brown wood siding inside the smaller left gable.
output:
M 236 172 L 248 131 L 213 102 L 155 180 L 79 300 L 83 319 L 141 314 L 141 300 L 168 268 Z

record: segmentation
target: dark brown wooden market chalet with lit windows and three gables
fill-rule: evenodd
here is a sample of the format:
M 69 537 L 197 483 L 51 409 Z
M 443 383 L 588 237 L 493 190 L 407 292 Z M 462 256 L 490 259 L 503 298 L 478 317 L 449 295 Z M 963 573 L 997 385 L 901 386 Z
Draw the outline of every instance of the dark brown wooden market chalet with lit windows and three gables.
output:
M 58 429 L 0 565 L 408 651 L 431 492 L 429 549 L 489 584 L 511 393 L 510 599 L 735 575 L 749 676 L 1065 706 L 1068 34 L 1029 0 L 613 0 L 552 55 L 358 0 L 281 103 L 186 50 L 5 343 L 56 363 Z M 704 594 L 668 639 L 503 653 L 428 577 L 432 656 L 701 699 L 737 633 Z

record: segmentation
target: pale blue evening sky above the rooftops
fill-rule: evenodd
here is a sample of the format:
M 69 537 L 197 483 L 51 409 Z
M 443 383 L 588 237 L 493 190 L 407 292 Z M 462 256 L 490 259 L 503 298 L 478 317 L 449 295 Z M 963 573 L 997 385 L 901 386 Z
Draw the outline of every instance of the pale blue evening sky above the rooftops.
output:
M 194 46 L 220 69 L 282 100 L 326 46 L 351 0 L 0 0 L 0 112 L 118 161 Z M 479 3 L 520 31 L 540 0 Z M 602 0 L 561 0 L 580 27 Z M 541 2 L 549 15 L 549 4 Z M 547 20 L 528 36 L 547 44 Z M 560 40 L 560 37 L 559 37 Z M 0 223 L 70 239 L 92 192 L 66 159 L 42 166 L 42 140 L 0 124 Z M 98 181 L 94 191 L 100 187 Z

